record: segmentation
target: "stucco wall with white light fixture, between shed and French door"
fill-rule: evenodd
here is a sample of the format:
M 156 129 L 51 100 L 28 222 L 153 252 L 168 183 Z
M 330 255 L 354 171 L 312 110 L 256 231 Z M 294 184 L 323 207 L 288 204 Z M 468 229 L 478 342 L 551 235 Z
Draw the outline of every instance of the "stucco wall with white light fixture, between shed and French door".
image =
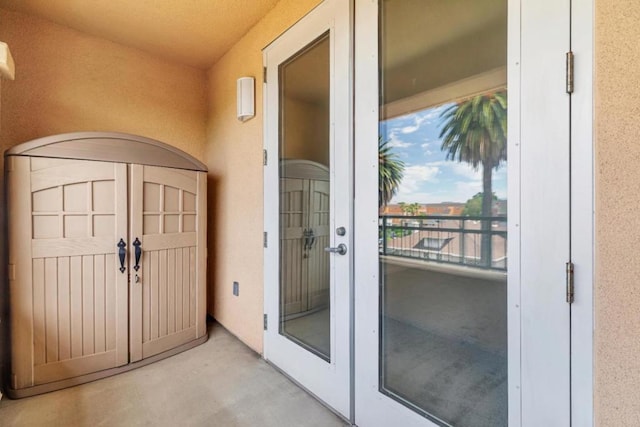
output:
M 281 0 L 209 70 L 209 313 L 262 352 L 262 49 L 319 0 Z M 236 80 L 256 77 L 256 117 L 236 119 Z M 240 284 L 233 296 L 232 284 Z

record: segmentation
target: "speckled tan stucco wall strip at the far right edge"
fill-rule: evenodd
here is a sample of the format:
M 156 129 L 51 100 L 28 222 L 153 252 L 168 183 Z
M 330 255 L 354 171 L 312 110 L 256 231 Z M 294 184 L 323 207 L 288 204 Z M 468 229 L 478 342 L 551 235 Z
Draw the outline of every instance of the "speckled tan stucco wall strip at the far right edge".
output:
M 640 3 L 595 5 L 595 424 L 638 426 Z

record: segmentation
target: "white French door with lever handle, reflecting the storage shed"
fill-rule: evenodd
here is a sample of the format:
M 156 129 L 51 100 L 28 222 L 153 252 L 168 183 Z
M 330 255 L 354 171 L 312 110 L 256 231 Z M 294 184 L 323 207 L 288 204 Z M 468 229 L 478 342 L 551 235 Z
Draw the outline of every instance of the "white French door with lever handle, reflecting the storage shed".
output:
M 346 418 L 353 253 L 350 6 L 264 50 L 264 357 Z

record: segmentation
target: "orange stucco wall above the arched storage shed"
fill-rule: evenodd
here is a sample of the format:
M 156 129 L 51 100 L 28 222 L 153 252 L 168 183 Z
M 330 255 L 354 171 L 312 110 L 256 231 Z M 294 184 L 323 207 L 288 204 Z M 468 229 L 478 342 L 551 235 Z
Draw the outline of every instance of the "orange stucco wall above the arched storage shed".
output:
M 118 131 L 203 159 L 206 72 L 0 9 L 16 79 L 2 87 L 0 148 L 75 131 Z

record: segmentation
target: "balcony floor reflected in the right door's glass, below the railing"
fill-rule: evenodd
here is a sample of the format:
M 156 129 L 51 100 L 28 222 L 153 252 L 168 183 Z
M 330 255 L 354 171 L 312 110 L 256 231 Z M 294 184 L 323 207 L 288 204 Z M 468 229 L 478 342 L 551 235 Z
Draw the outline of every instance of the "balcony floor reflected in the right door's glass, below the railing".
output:
M 458 426 L 507 417 L 504 272 L 385 257 L 385 388 Z

